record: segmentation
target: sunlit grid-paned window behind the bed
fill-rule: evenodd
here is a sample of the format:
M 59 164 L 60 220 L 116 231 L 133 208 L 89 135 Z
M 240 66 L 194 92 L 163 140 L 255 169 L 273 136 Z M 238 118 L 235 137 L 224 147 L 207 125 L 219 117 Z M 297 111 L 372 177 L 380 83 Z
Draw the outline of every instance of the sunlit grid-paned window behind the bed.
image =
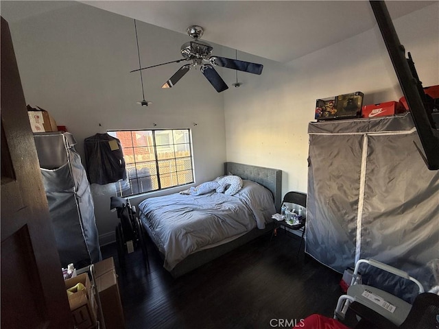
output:
M 193 183 L 189 129 L 115 130 L 123 148 L 127 180 L 117 182 L 117 195 L 126 197 Z

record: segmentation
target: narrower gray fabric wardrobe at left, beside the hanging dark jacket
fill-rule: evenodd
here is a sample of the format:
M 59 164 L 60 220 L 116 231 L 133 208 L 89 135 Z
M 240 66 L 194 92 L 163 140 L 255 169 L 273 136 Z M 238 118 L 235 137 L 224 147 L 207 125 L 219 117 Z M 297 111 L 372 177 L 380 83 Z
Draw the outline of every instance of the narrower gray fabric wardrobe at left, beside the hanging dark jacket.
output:
M 61 265 L 78 269 L 102 259 L 90 185 L 75 138 L 68 132 L 34 134 Z

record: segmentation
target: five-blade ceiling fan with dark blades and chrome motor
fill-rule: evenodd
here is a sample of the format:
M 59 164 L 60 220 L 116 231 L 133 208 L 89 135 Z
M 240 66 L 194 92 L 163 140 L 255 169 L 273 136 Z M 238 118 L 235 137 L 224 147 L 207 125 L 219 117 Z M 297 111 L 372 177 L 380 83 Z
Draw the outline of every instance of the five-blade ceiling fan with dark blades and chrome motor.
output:
M 204 29 L 198 25 L 191 25 L 187 28 L 187 34 L 194 41 L 185 42 L 181 46 L 181 54 L 183 56 L 180 60 L 173 60 L 171 62 L 165 62 L 162 64 L 156 64 L 147 67 L 141 67 L 140 69 L 133 70 L 131 72 L 141 71 L 145 69 L 151 69 L 152 67 L 161 66 L 165 64 L 178 63 L 182 61 L 189 62 L 183 66 L 172 75 L 162 88 L 171 88 L 185 75 L 190 69 L 196 69 L 200 66 L 200 71 L 211 83 L 213 88 L 217 90 L 218 93 L 228 89 L 228 86 L 222 77 L 219 76 L 217 71 L 213 66 L 222 66 L 228 69 L 234 69 L 238 71 L 244 71 L 248 73 L 258 74 L 262 73 L 263 65 L 256 64 L 252 62 L 244 62 L 242 60 L 233 60 L 231 58 L 212 56 L 213 47 L 209 43 L 198 40 L 204 33 Z

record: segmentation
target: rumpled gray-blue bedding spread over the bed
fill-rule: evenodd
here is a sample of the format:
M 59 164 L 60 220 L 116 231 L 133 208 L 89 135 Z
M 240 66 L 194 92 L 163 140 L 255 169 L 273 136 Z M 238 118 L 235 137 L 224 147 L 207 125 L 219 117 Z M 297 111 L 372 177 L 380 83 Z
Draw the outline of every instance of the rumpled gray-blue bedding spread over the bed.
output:
M 175 193 L 145 199 L 139 209 L 143 226 L 165 255 L 168 271 L 194 252 L 237 239 L 253 228 L 265 228 L 276 212 L 272 193 L 250 180 L 244 180 L 233 196 Z

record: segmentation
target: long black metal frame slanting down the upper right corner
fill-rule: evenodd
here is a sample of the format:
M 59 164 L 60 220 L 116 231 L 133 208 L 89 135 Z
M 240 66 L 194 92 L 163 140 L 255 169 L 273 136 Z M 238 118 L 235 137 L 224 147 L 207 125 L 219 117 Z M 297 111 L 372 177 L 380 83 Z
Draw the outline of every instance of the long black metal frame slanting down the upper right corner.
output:
M 427 164 L 428 169 L 438 170 L 439 130 L 436 129 L 436 125 L 431 117 L 431 110 L 427 107 L 423 86 L 418 80 L 418 74 L 416 73 L 412 56 L 408 53 L 409 58 L 405 58 L 405 48 L 399 42 L 398 35 L 396 34 L 384 1 L 369 2 L 375 14 L 375 19 L 377 19 L 385 47 L 387 47 L 390 60 L 392 60 L 399 84 L 401 85 L 401 89 L 410 108 L 424 153 L 418 145 L 416 145 L 416 147 L 423 157 L 425 164 Z

